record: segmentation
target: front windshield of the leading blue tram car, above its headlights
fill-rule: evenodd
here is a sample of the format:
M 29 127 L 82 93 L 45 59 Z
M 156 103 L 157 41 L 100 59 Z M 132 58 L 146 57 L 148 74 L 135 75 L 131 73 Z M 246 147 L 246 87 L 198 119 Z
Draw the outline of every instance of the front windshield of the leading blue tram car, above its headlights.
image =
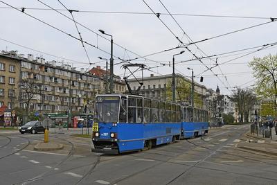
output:
M 119 97 L 98 96 L 94 120 L 103 123 L 116 123 L 118 121 L 118 109 Z

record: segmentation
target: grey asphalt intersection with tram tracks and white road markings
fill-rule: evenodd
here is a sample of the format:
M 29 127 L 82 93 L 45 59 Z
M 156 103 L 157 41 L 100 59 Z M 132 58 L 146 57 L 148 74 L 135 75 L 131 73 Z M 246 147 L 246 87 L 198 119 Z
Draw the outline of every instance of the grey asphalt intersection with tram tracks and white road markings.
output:
M 123 155 L 91 153 L 90 139 L 70 134 L 50 134 L 63 150 L 38 152 L 44 134 L 0 131 L 0 184 L 277 184 L 276 156 L 237 147 L 248 130 L 227 125 Z

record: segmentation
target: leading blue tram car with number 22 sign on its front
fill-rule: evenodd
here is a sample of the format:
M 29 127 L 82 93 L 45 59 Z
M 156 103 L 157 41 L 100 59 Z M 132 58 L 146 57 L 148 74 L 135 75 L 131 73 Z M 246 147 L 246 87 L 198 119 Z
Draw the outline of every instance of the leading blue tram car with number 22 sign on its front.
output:
M 96 96 L 92 152 L 117 154 L 179 139 L 181 107 L 134 95 Z

